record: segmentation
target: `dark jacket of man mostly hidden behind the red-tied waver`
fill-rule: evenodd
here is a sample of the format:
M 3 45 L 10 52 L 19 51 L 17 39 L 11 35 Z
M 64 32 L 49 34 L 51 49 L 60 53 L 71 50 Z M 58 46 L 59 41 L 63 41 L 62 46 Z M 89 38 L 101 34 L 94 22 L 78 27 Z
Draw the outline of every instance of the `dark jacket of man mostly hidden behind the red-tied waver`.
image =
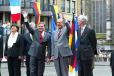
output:
M 32 39 L 30 37 L 30 33 L 26 33 L 23 35 L 23 42 L 24 42 L 24 45 L 23 45 L 23 54 L 24 55 L 28 55 L 28 51 L 30 49 L 30 46 L 32 44 Z

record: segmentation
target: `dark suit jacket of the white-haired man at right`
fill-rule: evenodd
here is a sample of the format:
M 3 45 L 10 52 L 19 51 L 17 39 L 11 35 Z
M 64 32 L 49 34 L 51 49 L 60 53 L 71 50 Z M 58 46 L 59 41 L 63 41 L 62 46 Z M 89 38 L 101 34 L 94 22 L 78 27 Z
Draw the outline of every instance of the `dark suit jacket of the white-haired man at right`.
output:
M 79 46 L 78 46 L 78 59 L 89 60 L 93 59 L 97 54 L 97 40 L 95 31 L 93 29 L 85 27 L 82 35 L 80 29 L 78 30 Z

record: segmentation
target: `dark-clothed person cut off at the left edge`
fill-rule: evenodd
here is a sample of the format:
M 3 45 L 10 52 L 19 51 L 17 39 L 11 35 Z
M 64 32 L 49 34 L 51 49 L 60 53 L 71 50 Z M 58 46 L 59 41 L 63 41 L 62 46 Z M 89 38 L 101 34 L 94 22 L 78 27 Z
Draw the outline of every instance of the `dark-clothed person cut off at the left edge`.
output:
M 3 58 L 3 28 L 0 27 L 0 76 L 1 76 L 1 60 Z

